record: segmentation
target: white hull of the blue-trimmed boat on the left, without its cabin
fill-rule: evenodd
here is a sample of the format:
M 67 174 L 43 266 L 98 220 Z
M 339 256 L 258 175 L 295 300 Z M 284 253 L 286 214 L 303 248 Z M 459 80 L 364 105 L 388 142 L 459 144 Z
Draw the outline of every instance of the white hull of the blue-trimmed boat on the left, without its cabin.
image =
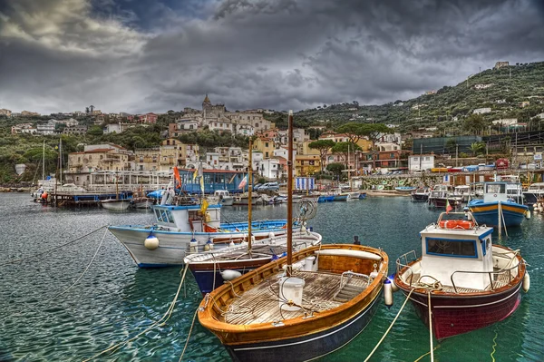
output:
M 199 242 L 199 251 L 204 251 L 204 245 L 208 240 L 214 242 L 216 249 L 227 247 L 230 240 L 244 240 L 248 236 L 247 231 L 236 232 L 178 232 L 170 230 L 155 230 L 143 225 L 111 226 L 109 230 L 121 241 L 121 244 L 129 251 L 132 259 L 140 268 L 162 268 L 183 264 L 189 252 L 189 242 L 195 239 Z M 300 227 L 293 226 L 293 231 Z M 273 232 L 274 235 L 284 235 L 287 229 L 275 228 L 267 230 L 254 230 L 252 235 L 256 240 L 265 239 Z M 159 240 L 159 248 L 147 249 L 145 240 L 150 235 Z

